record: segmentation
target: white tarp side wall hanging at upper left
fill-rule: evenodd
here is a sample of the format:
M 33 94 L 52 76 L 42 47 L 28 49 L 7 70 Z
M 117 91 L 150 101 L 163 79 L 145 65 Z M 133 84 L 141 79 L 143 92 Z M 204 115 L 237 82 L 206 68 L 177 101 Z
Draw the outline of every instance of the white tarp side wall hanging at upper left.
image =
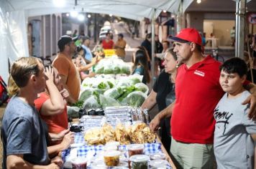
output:
M 6 1 L 0 6 L 0 75 L 7 82 L 9 62 L 18 57 L 28 57 L 27 22 L 24 11 L 6 12 Z

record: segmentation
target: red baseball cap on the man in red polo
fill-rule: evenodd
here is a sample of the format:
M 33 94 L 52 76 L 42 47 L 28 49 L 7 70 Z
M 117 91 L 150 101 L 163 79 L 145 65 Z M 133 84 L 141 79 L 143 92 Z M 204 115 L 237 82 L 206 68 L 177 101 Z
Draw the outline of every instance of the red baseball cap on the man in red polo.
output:
M 202 38 L 198 31 L 194 28 L 182 29 L 175 37 L 168 38 L 171 42 L 194 42 L 202 46 Z

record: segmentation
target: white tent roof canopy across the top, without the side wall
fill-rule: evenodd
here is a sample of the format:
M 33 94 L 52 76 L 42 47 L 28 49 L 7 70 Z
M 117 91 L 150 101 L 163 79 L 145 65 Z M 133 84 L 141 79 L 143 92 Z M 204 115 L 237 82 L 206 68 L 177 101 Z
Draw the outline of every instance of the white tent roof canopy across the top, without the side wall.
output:
M 55 0 L 58 1 L 58 0 Z M 59 0 L 60 1 L 60 0 Z M 170 11 L 176 13 L 181 0 L 63 0 L 65 4 L 63 7 L 57 7 L 52 0 L 9 0 L 8 9 L 6 11 L 27 11 L 28 16 L 37 16 L 42 14 L 52 14 L 57 12 L 75 10 L 106 14 L 122 14 L 124 17 L 130 19 L 141 20 L 144 17 L 151 18 L 153 9 L 156 9 L 156 16 L 161 11 Z M 183 1 L 183 9 L 186 9 L 193 0 Z M 61 3 L 61 1 L 60 1 Z M 56 12 L 57 11 L 57 12 Z M 126 16 L 127 14 L 127 16 Z

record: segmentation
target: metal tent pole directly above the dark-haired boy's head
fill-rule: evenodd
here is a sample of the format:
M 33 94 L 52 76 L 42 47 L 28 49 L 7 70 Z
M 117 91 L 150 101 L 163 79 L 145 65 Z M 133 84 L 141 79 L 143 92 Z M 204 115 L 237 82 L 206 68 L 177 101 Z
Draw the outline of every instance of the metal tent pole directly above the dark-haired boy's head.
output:
M 244 20 L 246 0 L 236 1 L 236 43 L 235 57 L 244 57 Z

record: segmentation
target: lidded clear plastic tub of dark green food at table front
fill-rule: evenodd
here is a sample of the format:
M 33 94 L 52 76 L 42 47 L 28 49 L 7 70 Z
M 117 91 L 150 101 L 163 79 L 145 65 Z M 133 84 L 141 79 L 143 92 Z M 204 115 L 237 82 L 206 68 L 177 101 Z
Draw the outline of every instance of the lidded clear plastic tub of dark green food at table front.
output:
M 147 169 L 149 168 L 148 161 L 150 158 L 147 155 L 132 155 L 130 158 L 132 169 Z

